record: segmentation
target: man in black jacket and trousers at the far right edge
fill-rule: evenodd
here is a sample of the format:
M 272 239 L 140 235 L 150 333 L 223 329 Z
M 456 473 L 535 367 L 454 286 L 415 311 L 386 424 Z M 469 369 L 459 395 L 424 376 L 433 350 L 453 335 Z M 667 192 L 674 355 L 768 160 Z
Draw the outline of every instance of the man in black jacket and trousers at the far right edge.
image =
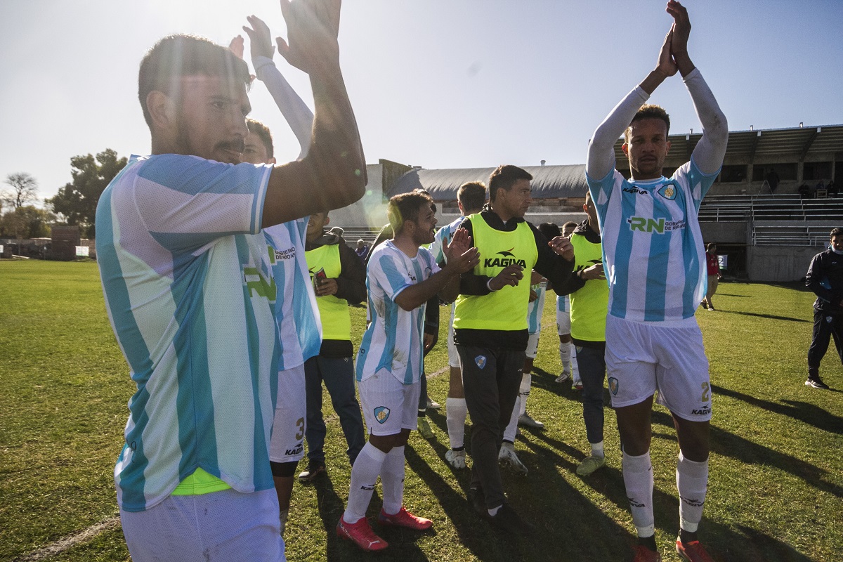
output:
M 831 231 L 829 249 L 813 256 L 805 286 L 817 295 L 813 302 L 813 340 L 808 348 L 808 380 L 813 388 L 829 388 L 819 377 L 819 361 L 834 337 L 843 362 L 843 228 Z

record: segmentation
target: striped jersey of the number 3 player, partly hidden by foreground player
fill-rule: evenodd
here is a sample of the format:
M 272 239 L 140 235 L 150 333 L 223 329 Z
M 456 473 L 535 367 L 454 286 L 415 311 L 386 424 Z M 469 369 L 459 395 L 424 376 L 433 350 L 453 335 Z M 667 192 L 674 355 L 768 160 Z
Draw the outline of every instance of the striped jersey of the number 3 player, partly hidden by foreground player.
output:
M 281 339 L 278 370 L 284 371 L 319 355 L 322 324 L 304 257 L 304 238 L 309 217 L 265 228 L 266 242 L 275 251 L 277 299 L 275 313 Z

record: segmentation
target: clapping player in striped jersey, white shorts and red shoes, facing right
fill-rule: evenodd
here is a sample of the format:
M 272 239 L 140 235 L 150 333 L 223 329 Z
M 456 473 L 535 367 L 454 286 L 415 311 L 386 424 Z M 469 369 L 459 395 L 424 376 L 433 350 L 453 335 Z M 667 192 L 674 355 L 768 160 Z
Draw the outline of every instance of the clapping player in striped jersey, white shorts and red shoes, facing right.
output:
M 421 245 L 433 241 L 436 216 L 432 199 L 422 193 L 395 195 L 389 200 L 393 238 L 369 256 L 368 309 L 371 322 L 357 351 L 357 386 L 369 439 L 352 467 L 348 504 L 336 526 L 341 538 L 365 551 L 383 550 L 386 541 L 373 533 L 366 510 L 378 477 L 383 488 L 381 525 L 422 531 L 432 522 L 405 509 L 404 447 L 416 429 L 421 393 L 425 306 L 434 295 L 453 300 L 459 276 L 479 261 L 464 229 L 446 247 L 441 269 Z

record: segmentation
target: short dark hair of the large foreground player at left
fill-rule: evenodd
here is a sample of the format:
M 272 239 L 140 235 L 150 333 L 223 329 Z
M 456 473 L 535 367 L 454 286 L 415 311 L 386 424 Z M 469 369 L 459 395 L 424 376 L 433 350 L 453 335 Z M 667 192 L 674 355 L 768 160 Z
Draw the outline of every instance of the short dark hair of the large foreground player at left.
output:
M 228 78 L 246 88 L 251 83 L 249 67 L 230 49 L 197 35 L 168 35 L 143 56 L 137 75 L 137 98 L 148 126 L 152 126 L 149 93 L 157 90 L 178 98 L 179 78 L 196 75 Z

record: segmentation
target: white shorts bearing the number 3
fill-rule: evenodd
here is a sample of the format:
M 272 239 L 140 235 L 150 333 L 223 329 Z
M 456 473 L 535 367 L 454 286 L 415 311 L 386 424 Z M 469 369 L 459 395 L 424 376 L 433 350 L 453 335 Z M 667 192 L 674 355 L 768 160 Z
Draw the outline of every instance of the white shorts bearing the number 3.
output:
M 269 459 L 273 463 L 298 463 L 304 457 L 307 413 L 304 365 L 278 372 L 278 399 L 269 446 Z

